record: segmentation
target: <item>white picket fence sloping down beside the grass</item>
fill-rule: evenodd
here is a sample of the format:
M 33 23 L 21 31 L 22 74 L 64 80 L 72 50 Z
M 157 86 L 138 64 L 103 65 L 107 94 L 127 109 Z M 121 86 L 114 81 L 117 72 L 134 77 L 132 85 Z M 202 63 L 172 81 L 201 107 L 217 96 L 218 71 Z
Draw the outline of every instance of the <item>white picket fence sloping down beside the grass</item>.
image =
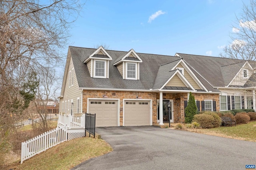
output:
M 67 126 L 63 126 L 45 132 L 26 142 L 22 142 L 20 164 L 22 164 L 24 160 L 31 158 L 32 156 L 39 154 L 40 152 L 43 152 L 53 146 L 56 146 L 64 141 L 67 141 L 67 139 Z

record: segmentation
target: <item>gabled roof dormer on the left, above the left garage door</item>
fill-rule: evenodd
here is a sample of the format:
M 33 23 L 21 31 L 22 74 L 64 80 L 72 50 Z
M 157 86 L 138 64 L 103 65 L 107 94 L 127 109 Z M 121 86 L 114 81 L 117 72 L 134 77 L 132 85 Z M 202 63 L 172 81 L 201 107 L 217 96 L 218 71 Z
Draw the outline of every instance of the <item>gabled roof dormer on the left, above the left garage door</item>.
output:
M 92 53 L 85 61 L 89 70 L 90 76 L 93 78 L 108 78 L 109 77 L 109 61 L 112 57 L 108 52 L 100 46 Z

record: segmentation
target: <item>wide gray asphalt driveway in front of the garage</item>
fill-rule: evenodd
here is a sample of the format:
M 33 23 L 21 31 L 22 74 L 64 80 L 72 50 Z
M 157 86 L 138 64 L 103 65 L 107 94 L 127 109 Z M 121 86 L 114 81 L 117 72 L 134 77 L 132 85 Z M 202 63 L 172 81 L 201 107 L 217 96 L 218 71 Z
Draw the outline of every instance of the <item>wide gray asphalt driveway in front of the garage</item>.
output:
M 74 170 L 244 170 L 256 143 L 155 126 L 96 128 L 114 151 Z

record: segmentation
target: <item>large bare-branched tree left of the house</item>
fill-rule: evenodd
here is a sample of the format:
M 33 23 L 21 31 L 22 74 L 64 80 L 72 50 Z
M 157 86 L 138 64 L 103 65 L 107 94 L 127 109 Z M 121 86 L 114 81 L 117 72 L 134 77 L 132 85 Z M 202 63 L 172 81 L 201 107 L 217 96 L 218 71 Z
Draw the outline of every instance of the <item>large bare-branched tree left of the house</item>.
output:
M 49 67 L 55 68 L 64 63 L 62 48 L 68 42 L 69 28 L 82 6 L 79 0 L 0 1 L 2 129 L 10 129 L 13 115 L 22 114 L 28 106 L 20 94 L 28 82 L 28 73 L 34 70 L 45 72 Z

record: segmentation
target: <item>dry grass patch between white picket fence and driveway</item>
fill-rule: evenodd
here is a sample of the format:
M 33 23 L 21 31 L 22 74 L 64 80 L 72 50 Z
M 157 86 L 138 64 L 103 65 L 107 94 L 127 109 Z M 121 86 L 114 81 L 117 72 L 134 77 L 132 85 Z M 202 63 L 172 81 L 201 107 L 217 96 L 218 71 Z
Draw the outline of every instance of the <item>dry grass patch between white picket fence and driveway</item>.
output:
M 68 170 L 96 156 L 112 151 L 112 147 L 102 139 L 83 137 L 61 143 L 46 150 L 22 164 L 18 161 L 5 169 L 15 170 Z

